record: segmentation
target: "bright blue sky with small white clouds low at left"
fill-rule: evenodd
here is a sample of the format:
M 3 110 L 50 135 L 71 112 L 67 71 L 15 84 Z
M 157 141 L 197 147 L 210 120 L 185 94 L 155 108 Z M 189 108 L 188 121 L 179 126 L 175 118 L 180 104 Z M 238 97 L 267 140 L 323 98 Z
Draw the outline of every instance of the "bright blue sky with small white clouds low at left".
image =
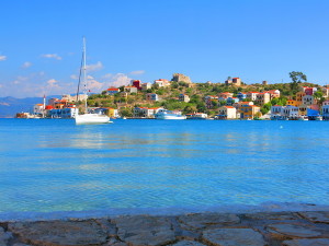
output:
M 329 83 L 328 0 L 11 0 L 0 2 L 0 97 L 189 75 L 193 82 Z

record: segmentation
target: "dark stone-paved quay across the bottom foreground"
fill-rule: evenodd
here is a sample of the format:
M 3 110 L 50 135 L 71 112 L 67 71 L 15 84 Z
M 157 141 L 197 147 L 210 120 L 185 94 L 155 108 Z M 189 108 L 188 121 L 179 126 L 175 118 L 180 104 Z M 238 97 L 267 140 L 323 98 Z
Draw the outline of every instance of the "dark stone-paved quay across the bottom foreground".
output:
M 0 222 L 0 246 L 321 246 L 329 211 Z

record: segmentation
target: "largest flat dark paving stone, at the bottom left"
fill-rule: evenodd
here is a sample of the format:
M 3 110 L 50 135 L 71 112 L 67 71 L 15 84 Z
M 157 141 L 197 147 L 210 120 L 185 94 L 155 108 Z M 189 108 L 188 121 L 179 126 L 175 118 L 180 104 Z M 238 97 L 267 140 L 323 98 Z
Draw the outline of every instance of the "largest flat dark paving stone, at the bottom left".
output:
M 105 244 L 107 234 L 93 221 L 10 223 L 21 242 L 35 246 L 89 246 Z

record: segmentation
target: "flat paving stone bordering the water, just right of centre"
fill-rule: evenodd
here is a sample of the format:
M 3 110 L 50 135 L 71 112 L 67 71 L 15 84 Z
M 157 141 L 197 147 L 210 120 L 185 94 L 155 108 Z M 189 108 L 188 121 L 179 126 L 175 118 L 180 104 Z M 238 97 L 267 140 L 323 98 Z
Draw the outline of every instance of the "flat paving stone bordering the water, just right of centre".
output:
M 192 229 L 206 229 L 214 225 L 240 223 L 240 218 L 230 213 L 192 213 L 179 216 L 179 221 Z

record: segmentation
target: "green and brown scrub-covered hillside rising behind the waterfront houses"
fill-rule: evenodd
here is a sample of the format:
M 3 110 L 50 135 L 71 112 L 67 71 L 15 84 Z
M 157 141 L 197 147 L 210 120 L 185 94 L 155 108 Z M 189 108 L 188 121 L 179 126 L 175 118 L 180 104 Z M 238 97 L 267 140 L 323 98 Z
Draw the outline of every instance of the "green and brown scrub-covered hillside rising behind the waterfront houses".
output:
M 239 92 L 264 92 L 270 90 L 280 90 L 281 102 L 285 104 L 288 97 L 294 97 L 300 86 L 320 87 L 314 83 L 299 83 L 297 87 L 292 89 L 291 83 L 276 83 L 276 84 L 242 84 L 241 86 L 225 85 L 223 83 L 194 83 L 194 86 L 189 86 L 184 82 L 171 82 L 168 87 L 158 87 L 155 84 L 147 91 L 138 91 L 138 93 L 128 94 L 126 97 L 121 93 L 115 95 L 106 95 L 106 92 L 101 94 L 91 95 L 88 99 L 89 106 L 94 107 L 113 107 L 118 108 L 123 116 L 132 116 L 134 107 L 164 107 L 167 109 L 179 109 L 184 114 L 201 112 L 208 115 L 217 114 L 220 106 L 219 102 L 213 102 L 211 108 L 206 108 L 204 97 L 206 95 L 218 95 L 223 92 L 234 93 L 234 97 Z M 121 87 L 121 92 L 124 87 Z M 147 101 L 147 93 L 156 93 L 159 96 L 158 102 Z M 180 94 L 186 94 L 191 101 L 189 103 L 178 101 Z M 276 103 L 276 102 L 275 102 Z M 264 109 L 266 112 L 268 108 Z

